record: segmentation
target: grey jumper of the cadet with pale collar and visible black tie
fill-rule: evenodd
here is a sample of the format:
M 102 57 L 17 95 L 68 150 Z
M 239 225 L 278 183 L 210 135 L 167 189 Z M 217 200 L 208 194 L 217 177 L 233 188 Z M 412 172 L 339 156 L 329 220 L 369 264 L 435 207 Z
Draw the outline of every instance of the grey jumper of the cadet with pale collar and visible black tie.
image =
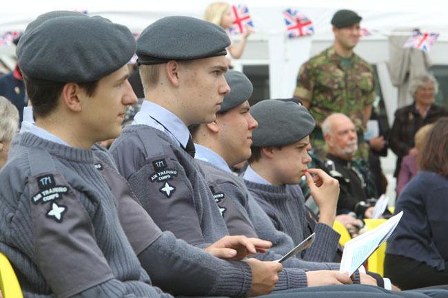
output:
M 115 140 L 110 152 L 120 173 L 162 230 L 172 231 L 176 237 L 196 246 L 207 246 L 229 235 L 203 171 L 163 131 L 147 125 L 130 125 Z M 166 164 L 159 169 L 161 174 L 156 171 L 156 162 Z M 163 180 L 159 182 L 157 178 Z M 176 192 L 179 190 L 175 200 L 159 191 L 165 181 Z M 174 204 L 177 206 L 170 209 Z M 303 270 L 283 270 L 278 277 L 275 290 L 307 286 Z

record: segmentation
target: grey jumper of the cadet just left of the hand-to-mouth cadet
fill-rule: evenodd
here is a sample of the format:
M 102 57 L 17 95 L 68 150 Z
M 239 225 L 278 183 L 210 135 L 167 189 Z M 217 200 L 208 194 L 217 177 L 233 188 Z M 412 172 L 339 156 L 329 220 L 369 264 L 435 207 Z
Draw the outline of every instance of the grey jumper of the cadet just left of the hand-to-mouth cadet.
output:
M 294 247 L 291 237 L 278 231 L 267 214 L 261 209 L 261 206 L 252 198 L 242 178 L 227 173 L 203 160 L 198 160 L 198 164 L 203 169 L 207 182 L 215 183 L 226 198 L 231 198 L 238 211 L 250 219 L 258 237 L 273 243 L 273 248 L 265 254 L 258 255 L 258 259 L 267 261 L 280 259 L 282 255 Z M 234 228 L 231 232 L 233 235 L 241 235 L 244 230 L 238 231 L 237 228 Z M 287 259 L 283 262 L 283 266 L 286 268 L 285 270 L 297 268 L 303 270 L 339 270 L 339 264 L 337 263 L 308 262 L 296 257 Z M 356 274 L 356 282 L 359 282 L 358 278 L 359 276 Z

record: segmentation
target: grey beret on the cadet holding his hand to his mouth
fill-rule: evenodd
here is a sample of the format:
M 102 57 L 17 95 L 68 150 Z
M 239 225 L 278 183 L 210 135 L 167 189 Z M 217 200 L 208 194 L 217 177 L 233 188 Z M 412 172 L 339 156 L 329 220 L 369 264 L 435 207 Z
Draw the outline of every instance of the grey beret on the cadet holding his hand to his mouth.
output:
M 316 123 L 303 105 L 267 99 L 253 105 L 250 114 L 258 122 L 252 146 L 277 147 L 294 144 L 312 133 Z

